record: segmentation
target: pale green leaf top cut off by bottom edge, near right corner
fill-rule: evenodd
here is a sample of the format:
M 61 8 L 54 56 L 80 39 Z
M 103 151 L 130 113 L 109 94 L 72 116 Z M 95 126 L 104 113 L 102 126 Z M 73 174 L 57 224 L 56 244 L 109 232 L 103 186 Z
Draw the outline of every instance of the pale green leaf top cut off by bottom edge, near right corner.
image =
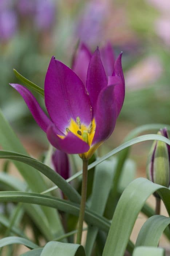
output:
M 134 249 L 133 256 L 165 256 L 163 248 L 140 246 Z

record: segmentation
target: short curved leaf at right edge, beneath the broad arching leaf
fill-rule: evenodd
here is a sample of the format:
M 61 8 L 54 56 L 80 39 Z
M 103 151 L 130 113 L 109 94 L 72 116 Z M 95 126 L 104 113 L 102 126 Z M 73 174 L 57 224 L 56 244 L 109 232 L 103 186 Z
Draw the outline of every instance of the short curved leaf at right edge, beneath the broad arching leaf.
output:
M 139 231 L 135 246 L 158 246 L 159 239 L 165 228 L 170 224 L 170 218 L 154 215 L 147 219 Z

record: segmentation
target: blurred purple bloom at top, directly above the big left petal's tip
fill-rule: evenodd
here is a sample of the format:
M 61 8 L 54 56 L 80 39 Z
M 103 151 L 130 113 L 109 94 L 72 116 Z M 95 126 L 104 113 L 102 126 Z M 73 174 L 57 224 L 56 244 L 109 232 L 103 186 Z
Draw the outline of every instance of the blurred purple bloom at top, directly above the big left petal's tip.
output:
M 40 30 L 49 29 L 55 22 L 56 4 L 52 0 L 36 0 L 35 25 Z

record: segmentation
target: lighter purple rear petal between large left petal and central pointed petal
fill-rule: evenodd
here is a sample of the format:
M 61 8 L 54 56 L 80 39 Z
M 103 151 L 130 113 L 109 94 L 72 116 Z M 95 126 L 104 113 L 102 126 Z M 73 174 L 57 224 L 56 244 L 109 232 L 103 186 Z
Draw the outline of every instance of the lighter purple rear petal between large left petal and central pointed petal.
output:
M 81 43 L 72 64 L 72 70 L 78 75 L 85 86 L 87 80 L 87 69 L 91 56 L 92 54 L 87 46 Z

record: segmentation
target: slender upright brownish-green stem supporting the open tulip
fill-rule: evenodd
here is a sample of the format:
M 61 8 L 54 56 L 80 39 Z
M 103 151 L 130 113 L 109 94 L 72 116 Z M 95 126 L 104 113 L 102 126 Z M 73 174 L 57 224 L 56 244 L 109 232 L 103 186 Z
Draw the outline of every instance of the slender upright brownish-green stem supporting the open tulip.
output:
M 83 177 L 82 177 L 82 199 L 80 203 L 80 214 L 79 214 L 79 224 L 76 244 L 81 244 L 82 241 L 82 230 L 84 221 L 84 211 L 86 206 L 86 194 L 87 194 L 87 167 L 88 160 L 83 159 Z

